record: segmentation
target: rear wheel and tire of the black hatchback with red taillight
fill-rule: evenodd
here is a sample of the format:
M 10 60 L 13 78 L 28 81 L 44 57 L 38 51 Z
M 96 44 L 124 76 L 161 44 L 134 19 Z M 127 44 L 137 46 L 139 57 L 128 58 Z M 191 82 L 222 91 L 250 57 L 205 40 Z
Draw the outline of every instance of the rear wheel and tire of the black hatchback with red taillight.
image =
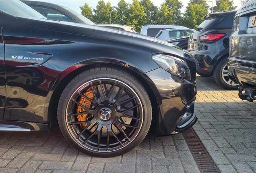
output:
M 227 58 L 222 58 L 217 62 L 213 77 L 217 84 L 227 90 L 237 90 L 239 87 L 239 84 L 235 83 L 227 74 Z

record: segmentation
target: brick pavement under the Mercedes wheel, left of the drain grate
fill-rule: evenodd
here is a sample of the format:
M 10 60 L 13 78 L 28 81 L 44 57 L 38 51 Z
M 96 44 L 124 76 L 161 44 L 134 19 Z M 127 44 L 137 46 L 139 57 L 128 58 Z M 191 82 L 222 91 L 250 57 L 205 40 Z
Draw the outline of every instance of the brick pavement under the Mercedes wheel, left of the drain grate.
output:
M 51 133 L 0 133 L 0 173 L 200 173 L 182 134 L 147 137 L 113 158 L 80 153 L 58 128 Z

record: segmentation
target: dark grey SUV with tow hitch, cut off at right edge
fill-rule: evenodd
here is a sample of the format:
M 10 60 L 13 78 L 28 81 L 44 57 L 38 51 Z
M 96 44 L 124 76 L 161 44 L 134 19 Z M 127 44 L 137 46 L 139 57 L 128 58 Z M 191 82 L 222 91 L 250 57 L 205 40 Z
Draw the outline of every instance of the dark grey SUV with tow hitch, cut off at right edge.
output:
M 254 101 L 256 96 L 256 0 L 246 2 L 235 14 L 229 39 L 228 74 L 241 84 L 239 98 Z M 242 93 L 243 91 L 244 94 Z

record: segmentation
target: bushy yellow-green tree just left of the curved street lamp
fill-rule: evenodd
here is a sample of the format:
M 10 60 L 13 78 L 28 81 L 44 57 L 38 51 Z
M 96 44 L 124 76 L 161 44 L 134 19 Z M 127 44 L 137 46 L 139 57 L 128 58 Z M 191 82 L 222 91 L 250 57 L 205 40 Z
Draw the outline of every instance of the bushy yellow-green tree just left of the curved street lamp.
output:
M 190 0 L 184 13 L 183 26 L 196 28 L 204 21 L 209 6 L 203 0 Z

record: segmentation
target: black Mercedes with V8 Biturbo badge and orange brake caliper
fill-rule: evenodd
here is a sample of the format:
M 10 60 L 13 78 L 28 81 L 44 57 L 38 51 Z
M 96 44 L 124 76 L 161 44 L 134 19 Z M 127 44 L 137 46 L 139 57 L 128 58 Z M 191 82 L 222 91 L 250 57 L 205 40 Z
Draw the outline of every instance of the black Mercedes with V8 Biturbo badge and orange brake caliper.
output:
M 122 155 L 153 134 L 196 123 L 196 66 L 137 33 L 49 20 L 0 1 L 0 130 L 60 129 L 76 149 Z

